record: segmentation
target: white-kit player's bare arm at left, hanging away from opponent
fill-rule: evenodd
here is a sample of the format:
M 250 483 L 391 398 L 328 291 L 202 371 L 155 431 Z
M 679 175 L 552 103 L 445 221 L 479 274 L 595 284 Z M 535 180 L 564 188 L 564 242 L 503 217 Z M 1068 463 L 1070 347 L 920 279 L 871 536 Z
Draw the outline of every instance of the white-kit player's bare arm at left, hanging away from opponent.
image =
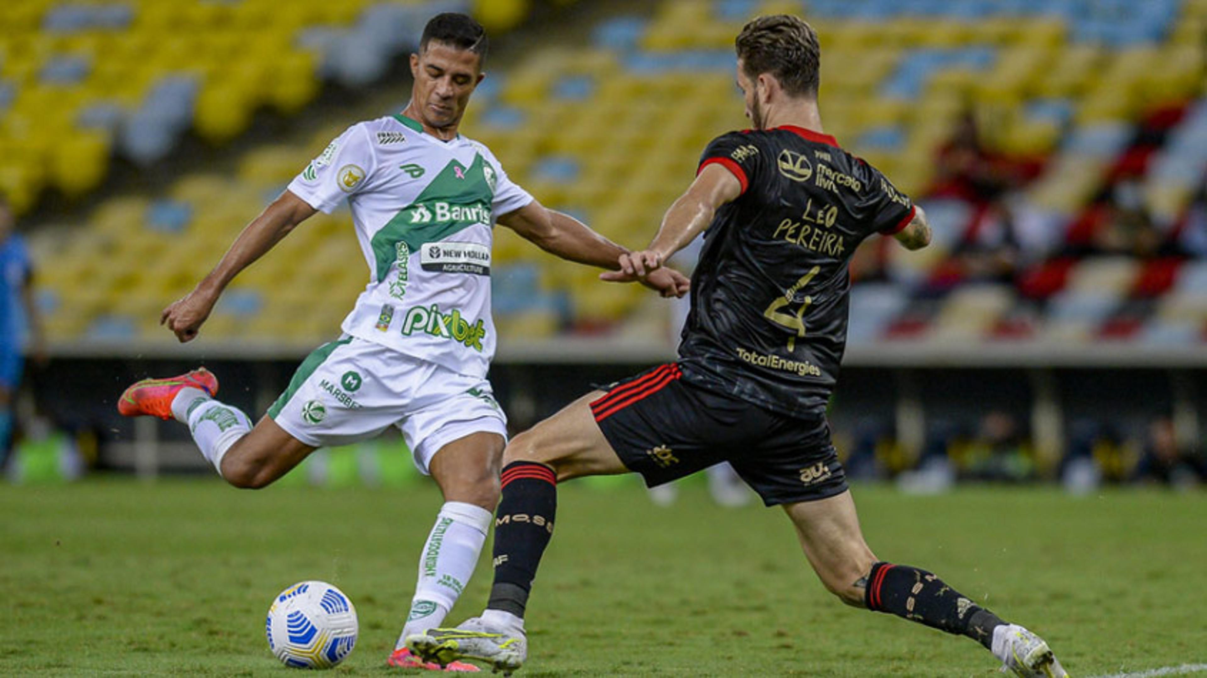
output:
M 192 292 L 182 299 L 173 302 L 159 316 L 159 325 L 176 334 L 181 343 L 197 337 L 205 318 L 210 317 L 214 304 L 226 286 L 239 271 L 264 256 L 274 245 L 288 235 L 293 228 L 314 215 L 315 209 L 305 200 L 288 191 L 264 208 L 258 217 L 251 221 L 234 244 L 222 256 L 218 265 L 209 273 Z

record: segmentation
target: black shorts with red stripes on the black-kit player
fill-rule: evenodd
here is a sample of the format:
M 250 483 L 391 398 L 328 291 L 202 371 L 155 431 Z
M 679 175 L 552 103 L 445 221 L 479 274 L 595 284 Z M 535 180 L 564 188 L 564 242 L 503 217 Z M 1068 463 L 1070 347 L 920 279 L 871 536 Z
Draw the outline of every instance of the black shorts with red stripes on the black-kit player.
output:
M 669 363 L 604 387 L 591 413 L 651 487 L 728 461 L 766 505 L 847 489 L 826 417 L 799 419 L 680 379 Z

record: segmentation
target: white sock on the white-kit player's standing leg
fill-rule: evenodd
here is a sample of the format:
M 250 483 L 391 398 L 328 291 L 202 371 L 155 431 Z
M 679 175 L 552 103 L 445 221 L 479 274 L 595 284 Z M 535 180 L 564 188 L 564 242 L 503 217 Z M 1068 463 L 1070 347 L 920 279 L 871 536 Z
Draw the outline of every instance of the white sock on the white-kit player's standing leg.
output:
M 445 502 L 441 507 L 419 559 L 415 596 L 395 649 L 407 644 L 407 636 L 444 621 L 478 565 L 491 518 L 489 510 L 463 502 Z

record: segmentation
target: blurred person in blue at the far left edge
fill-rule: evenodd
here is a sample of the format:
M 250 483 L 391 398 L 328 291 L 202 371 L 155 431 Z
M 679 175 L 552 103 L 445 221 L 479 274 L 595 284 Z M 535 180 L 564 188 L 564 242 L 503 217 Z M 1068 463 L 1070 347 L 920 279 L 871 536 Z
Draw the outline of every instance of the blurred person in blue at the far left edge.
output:
M 12 450 L 13 402 L 24 369 L 24 335 L 35 360 L 46 360 L 42 323 L 34 304 L 34 267 L 25 240 L 14 232 L 16 221 L 0 194 L 0 467 Z

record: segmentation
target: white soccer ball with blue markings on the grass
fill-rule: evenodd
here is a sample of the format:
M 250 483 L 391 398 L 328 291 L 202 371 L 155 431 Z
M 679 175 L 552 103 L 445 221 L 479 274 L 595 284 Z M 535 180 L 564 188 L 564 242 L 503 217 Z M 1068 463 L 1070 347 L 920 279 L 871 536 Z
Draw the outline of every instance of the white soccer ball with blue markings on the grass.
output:
M 268 648 L 285 666 L 331 668 L 356 644 L 356 608 L 326 581 L 302 581 L 268 608 Z

